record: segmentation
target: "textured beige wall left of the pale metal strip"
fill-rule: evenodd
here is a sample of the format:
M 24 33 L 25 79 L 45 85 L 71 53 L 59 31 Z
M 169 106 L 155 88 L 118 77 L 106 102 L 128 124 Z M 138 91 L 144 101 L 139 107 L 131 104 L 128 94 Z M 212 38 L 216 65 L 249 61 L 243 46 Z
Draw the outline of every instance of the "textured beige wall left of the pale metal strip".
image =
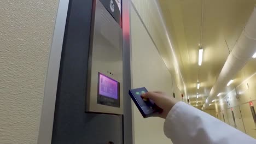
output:
M 0 0 L 0 143 L 37 143 L 58 0 Z

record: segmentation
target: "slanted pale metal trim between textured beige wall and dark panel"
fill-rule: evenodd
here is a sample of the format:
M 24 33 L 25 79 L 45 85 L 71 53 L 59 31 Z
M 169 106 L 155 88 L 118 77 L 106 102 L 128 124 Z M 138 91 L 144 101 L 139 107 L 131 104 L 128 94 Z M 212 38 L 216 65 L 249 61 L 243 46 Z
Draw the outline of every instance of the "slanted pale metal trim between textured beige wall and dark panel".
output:
M 44 99 L 40 116 L 38 144 L 51 143 L 54 110 L 59 78 L 62 44 L 65 33 L 69 0 L 60 0 L 56 14 L 53 42 L 51 44 L 48 71 L 44 87 Z

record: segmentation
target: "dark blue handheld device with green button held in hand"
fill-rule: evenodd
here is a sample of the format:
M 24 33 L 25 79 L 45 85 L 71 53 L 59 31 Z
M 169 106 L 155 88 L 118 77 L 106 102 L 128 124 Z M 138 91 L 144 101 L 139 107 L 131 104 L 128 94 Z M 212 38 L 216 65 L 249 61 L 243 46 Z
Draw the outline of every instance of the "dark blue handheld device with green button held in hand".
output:
M 144 118 L 152 117 L 162 111 L 162 109 L 158 107 L 153 100 L 143 99 L 141 97 L 141 94 L 146 92 L 148 91 L 144 87 L 129 90 L 130 97 Z

